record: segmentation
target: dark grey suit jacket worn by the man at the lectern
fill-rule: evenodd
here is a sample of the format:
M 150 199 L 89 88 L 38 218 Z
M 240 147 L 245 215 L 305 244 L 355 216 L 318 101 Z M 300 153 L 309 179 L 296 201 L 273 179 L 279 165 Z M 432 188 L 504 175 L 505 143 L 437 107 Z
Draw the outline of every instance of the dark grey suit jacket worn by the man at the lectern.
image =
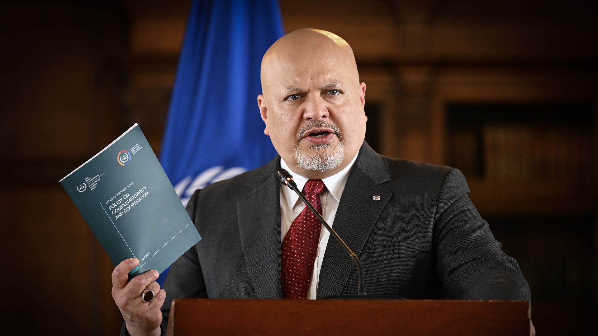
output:
M 187 210 L 203 239 L 170 268 L 163 331 L 175 298 L 282 298 L 279 167 L 276 157 L 193 194 Z M 517 261 L 468 196 L 459 170 L 383 157 L 364 142 L 334 230 L 361 259 L 368 294 L 530 301 Z M 329 241 L 318 298 L 357 285 L 352 259 Z

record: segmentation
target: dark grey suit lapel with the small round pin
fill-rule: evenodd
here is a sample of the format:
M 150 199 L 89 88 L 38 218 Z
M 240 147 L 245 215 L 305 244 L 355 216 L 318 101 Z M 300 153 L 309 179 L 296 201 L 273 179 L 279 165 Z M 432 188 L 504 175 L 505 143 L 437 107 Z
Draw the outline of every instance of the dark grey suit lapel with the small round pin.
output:
M 332 225 L 358 256 L 392 196 L 392 192 L 379 185 L 389 179 L 382 157 L 364 142 L 347 179 Z M 374 200 L 374 196 L 380 196 L 380 200 Z M 330 237 L 319 275 L 318 298 L 340 295 L 353 267 L 355 263 L 347 252 L 334 237 Z

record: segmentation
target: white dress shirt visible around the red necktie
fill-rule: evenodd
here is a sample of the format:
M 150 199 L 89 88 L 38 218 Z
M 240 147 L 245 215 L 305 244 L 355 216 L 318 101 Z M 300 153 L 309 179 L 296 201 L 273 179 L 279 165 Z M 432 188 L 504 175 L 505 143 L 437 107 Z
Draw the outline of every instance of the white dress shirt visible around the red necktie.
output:
M 353 167 L 353 163 L 355 163 L 356 158 L 357 155 L 355 155 L 353 160 L 340 172 L 329 176 L 328 178 L 322 179 L 322 182 L 324 182 L 324 185 L 326 186 L 326 191 L 320 195 L 320 200 L 322 203 L 321 215 L 331 227 L 334 223 L 334 216 L 336 215 L 336 211 L 338 209 L 340 197 L 343 194 L 344 185 L 347 184 L 349 172 L 351 167 Z M 297 184 L 297 188 L 299 190 L 303 190 L 308 178 L 293 172 L 285 163 L 285 160 L 282 160 L 282 158 L 280 158 L 280 167 L 286 169 L 293 176 L 293 179 Z M 297 196 L 297 194 L 291 190 L 291 188 L 285 187 L 283 185 L 280 185 L 280 187 L 282 188 L 282 193 L 280 193 L 280 231 L 282 233 L 282 237 L 280 237 L 280 243 L 282 243 L 282 240 L 285 239 L 286 233 L 289 231 L 289 228 L 291 228 L 292 222 L 295 220 L 295 218 L 297 218 L 301 211 L 303 211 L 305 204 L 299 199 L 299 196 Z M 320 268 L 322 268 L 322 260 L 324 259 L 324 252 L 326 251 L 328 237 L 330 236 L 330 233 L 328 230 L 326 230 L 324 225 L 321 225 L 321 227 L 320 241 L 318 243 L 318 251 L 316 252 L 316 261 L 313 265 L 312 280 L 309 282 L 309 291 L 307 292 L 307 298 L 310 300 L 316 299 Z

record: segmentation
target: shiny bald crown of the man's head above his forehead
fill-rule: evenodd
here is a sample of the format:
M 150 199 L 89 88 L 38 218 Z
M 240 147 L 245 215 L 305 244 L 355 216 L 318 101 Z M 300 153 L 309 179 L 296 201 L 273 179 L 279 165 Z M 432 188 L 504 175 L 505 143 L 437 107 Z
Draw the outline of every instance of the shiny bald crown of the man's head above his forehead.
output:
M 271 72 L 280 68 L 280 63 L 319 63 L 333 60 L 346 66 L 347 71 L 359 83 L 359 74 L 355 56 L 350 45 L 340 36 L 327 30 L 302 28 L 279 38 L 268 48 L 261 63 L 262 92 L 264 84 L 272 78 Z

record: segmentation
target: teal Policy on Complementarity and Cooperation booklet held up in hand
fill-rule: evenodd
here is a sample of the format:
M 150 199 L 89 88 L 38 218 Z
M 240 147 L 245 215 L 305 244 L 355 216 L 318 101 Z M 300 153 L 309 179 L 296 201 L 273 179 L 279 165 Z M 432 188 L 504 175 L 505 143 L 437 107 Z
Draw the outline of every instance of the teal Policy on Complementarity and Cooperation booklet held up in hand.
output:
M 60 184 L 114 265 L 139 259 L 129 277 L 161 273 L 202 239 L 138 124 Z

